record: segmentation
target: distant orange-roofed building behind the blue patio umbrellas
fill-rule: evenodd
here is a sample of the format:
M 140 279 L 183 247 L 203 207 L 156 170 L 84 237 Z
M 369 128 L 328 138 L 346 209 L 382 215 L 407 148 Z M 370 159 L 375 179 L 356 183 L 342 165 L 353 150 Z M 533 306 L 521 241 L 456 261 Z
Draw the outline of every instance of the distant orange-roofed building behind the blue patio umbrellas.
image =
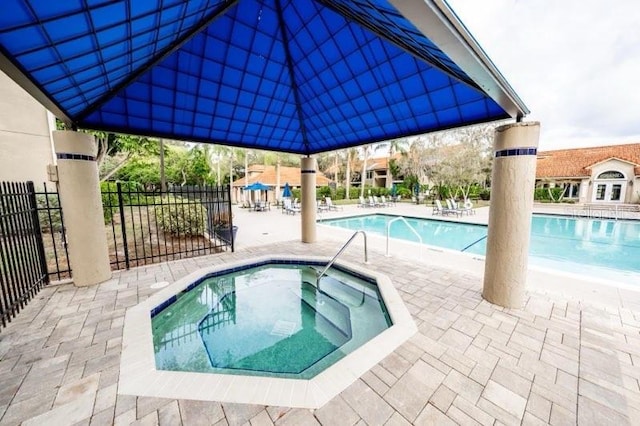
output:
M 278 182 L 278 171 L 276 166 L 264 166 L 262 164 L 254 164 L 249 166 L 247 178 L 241 177 L 231 184 L 231 200 L 239 202 L 249 198 L 255 194 L 245 194 L 244 187 L 252 183 L 260 182 L 272 187 L 267 191 L 267 199 L 275 201 L 282 198 L 282 188 L 288 183 L 291 189 L 300 188 L 302 186 L 302 176 L 299 167 L 280 166 L 280 181 Z M 328 186 L 331 179 L 326 177 L 322 172 L 316 172 L 316 187 Z M 278 187 L 279 185 L 279 187 Z

